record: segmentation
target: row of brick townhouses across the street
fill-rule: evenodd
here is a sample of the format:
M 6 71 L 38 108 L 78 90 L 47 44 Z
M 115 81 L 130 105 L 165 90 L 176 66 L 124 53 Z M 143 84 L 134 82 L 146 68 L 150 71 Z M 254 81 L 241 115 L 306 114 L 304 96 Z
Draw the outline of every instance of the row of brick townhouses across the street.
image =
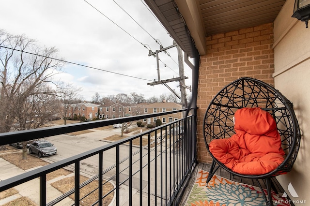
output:
M 99 105 L 93 103 L 77 103 L 71 104 L 68 108 L 67 118 L 73 118 L 74 114 L 86 117 L 87 119 L 93 119 L 99 117 L 102 118 L 122 118 L 134 115 L 152 114 L 157 112 L 168 112 L 182 109 L 181 104 L 169 103 L 166 101 L 160 103 L 140 103 L 135 105 L 122 105 L 120 103 L 113 103 L 111 105 Z M 182 113 L 175 113 L 170 115 L 158 116 L 155 118 L 141 119 L 141 121 L 152 124 L 157 119 L 160 119 L 162 123 L 168 123 L 176 119 L 182 118 Z

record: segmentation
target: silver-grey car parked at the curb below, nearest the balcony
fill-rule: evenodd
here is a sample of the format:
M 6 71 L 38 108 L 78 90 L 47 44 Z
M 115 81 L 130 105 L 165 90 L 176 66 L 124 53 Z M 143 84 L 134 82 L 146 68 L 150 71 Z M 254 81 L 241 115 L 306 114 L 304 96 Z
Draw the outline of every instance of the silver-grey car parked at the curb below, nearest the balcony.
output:
M 53 155 L 57 153 L 57 148 L 46 140 L 34 141 L 29 147 L 30 154 L 37 154 L 38 157 Z

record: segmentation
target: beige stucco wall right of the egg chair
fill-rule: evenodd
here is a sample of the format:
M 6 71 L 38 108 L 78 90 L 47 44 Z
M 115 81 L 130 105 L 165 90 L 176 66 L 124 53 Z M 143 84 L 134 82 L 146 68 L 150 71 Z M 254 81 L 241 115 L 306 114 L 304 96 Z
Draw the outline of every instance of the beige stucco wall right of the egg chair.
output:
M 294 104 L 302 132 L 301 147 L 293 170 L 277 177 L 296 206 L 310 204 L 310 29 L 292 18 L 294 0 L 287 0 L 274 22 L 275 88 Z M 298 197 L 288 190 L 291 183 Z

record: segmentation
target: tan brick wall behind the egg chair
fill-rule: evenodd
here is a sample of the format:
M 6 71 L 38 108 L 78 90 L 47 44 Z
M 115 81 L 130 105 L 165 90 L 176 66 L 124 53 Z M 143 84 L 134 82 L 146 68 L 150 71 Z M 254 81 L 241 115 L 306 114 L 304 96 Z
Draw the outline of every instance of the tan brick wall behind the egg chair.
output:
M 205 111 L 217 92 L 247 76 L 274 84 L 273 24 L 240 29 L 206 38 L 207 54 L 201 56 L 198 83 L 198 160 L 211 159 L 203 140 Z

